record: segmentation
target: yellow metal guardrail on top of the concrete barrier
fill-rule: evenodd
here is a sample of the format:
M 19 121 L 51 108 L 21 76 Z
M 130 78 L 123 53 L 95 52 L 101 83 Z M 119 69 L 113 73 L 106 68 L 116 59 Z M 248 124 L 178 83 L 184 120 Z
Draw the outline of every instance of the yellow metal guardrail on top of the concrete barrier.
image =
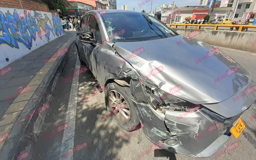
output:
M 236 25 L 236 24 L 170 24 L 171 26 L 174 26 L 174 28 L 177 28 L 178 26 L 184 26 L 184 29 L 187 29 L 187 26 L 197 26 L 197 29 L 200 29 L 201 27 L 214 27 L 214 30 L 218 30 L 218 27 L 239 27 L 238 31 L 241 32 L 243 28 L 256 28 L 256 25 Z

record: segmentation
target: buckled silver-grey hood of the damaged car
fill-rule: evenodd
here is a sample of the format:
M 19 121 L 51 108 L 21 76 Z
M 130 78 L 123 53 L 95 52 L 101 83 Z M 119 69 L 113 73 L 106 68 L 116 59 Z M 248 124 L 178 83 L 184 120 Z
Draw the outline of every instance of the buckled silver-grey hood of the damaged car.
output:
M 194 104 L 226 100 L 250 81 L 249 72 L 223 52 L 186 36 L 117 42 L 114 46 L 142 76 L 141 83 L 154 84 L 169 93 L 181 85 L 182 89 L 171 93 Z

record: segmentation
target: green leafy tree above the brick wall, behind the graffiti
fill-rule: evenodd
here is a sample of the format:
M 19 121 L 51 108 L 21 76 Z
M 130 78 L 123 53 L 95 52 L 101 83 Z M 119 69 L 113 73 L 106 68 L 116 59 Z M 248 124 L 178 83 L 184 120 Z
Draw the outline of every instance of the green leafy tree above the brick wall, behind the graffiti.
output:
M 67 0 L 41 0 L 46 3 L 50 10 L 57 11 L 58 9 L 62 11 L 62 15 L 68 15 L 68 7 L 70 4 L 67 3 Z M 72 0 L 71 0 L 72 1 Z

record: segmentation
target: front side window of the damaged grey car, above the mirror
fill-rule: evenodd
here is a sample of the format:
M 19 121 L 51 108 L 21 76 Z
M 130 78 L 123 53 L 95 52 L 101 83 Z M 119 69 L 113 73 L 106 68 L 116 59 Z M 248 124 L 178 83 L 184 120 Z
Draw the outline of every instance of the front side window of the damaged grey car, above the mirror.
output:
M 96 41 L 98 41 L 98 42 L 102 41 L 98 22 L 95 19 L 95 17 L 92 16 L 92 15 L 89 16 L 88 25 L 87 25 L 87 32 L 92 32 L 95 36 Z

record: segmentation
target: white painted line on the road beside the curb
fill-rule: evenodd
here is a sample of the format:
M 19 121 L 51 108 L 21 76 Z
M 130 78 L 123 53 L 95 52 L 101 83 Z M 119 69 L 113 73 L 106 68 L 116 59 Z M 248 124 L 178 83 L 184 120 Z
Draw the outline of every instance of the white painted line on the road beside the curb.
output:
M 75 70 L 80 68 L 80 62 L 78 55 L 76 57 L 76 67 Z M 74 74 L 75 73 L 74 70 Z M 69 101 L 68 101 L 68 111 L 66 123 L 68 123 L 68 128 L 64 130 L 62 144 L 61 144 L 61 152 L 60 152 L 60 160 L 73 160 L 73 154 L 69 154 L 64 158 L 63 155 L 68 153 L 74 148 L 74 138 L 75 138 L 75 126 L 76 126 L 76 103 L 77 103 L 77 89 L 78 89 L 78 79 L 79 76 L 75 76 L 72 81 Z

